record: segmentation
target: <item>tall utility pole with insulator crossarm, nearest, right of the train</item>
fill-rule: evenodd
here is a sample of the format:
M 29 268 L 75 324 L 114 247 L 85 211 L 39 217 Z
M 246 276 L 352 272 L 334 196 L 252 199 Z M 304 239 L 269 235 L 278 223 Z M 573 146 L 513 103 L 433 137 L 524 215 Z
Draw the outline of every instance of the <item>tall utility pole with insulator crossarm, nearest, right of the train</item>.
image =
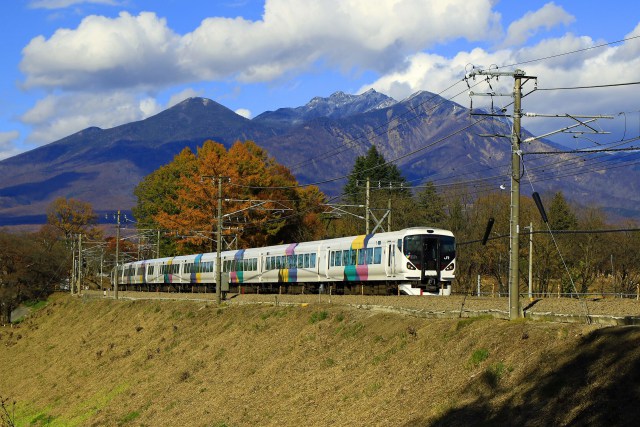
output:
M 493 70 L 474 70 L 469 73 L 470 77 L 476 75 L 486 75 L 491 77 L 510 76 L 513 77 L 513 93 L 506 96 L 513 97 L 513 130 L 511 132 L 511 213 L 509 219 L 509 318 L 516 319 L 522 316 L 520 312 L 520 287 L 519 287 L 519 248 L 520 248 L 520 163 L 522 151 L 520 150 L 520 119 L 522 117 L 522 79 L 535 79 L 536 77 L 525 77 L 525 72 L 515 70 L 513 72 Z M 470 96 L 505 96 L 505 94 L 473 93 Z

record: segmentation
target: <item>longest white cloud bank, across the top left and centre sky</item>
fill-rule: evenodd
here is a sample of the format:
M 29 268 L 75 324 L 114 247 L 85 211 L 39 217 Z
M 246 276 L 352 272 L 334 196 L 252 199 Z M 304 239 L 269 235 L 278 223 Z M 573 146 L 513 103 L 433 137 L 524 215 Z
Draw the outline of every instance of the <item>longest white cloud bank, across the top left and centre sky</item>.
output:
M 271 81 L 319 60 L 389 71 L 437 43 L 495 35 L 498 18 L 491 0 L 267 0 L 261 20 L 207 18 L 180 36 L 154 13 L 121 12 L 34 38 L 20 68 L 27 88 L 72 90 Z

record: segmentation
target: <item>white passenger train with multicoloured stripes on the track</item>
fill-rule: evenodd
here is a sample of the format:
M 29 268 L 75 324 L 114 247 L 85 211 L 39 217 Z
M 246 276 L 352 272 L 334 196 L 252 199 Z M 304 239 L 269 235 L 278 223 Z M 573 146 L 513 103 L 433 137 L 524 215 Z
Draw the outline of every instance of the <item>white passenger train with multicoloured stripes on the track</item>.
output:
M 227 250 L 221 291 L 450 295 L 456 241 L 449 230 L 413 227 L 261 248 Z M 118 266 L 121 289 L 205 291 L 217 286 L 215 252 L 147 259 Z

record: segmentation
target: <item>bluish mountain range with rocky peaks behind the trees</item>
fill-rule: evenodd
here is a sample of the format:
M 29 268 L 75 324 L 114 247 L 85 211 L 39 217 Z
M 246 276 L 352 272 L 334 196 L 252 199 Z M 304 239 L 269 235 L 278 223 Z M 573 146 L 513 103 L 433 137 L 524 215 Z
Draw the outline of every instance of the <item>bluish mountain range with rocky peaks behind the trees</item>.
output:
M 227 147 L 253 140 L 299 182 L 323 182 L 321 189 L 330 195 L 340 193 L 345 180 L 338 178 L 371 145 L 414 185 L 432 180 L 493 191 L 508 184 L 510 141 L 496 135 L 508 135 L 510 127 L 505 118 L 471 115 L 429 92 L 403 101 L 374 90 L 336 92 L 253 119 L 210 99 L 189 98 L 145 120 L 90 127 L 0 161 L 0 225 L 43 223 L 57 197 L 90 202 L 99 213 L 130 210 L 136 203 L 133 189 L 145 175 L 207 139 Z M 562 147 L 543 140 L 522 149 L 557 152 Z M 525 163 L 536 191 L 563 191 L 568 199 L 602 207 L 618 219 L 640 217 L 640 170 L 623 156 L 608 157 L 607 168 L 599 170 L 575 155 L 557 154 L 544 164 L 541 157 Z M 611 166 L 618 163 L 625 167 Z

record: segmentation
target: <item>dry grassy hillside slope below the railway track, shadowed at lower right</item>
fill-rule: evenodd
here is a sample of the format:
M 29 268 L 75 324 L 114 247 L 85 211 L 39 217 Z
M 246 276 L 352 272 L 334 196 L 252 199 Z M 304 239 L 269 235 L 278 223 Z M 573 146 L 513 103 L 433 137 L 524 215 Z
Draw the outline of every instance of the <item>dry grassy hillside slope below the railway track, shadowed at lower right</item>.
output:
M 59 295 L 0 329 L 0 397 L 18 425 L 632 425 L 639 339 L 335 303 Z

